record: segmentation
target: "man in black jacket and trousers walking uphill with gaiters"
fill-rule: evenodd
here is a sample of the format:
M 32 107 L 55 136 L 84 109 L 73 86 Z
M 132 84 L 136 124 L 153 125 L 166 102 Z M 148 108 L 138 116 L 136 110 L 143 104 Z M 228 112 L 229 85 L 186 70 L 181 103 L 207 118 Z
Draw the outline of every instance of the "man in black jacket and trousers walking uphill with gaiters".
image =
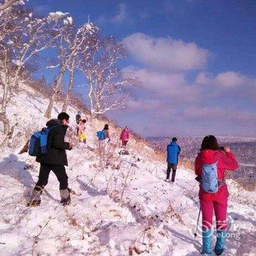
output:
M 68 124 L 69 115 L 64 112 L 59 113 L 58 119 L 50 119 L 46 124 L 48 128 L 51 128 L 47 138 L 47 152 L 37 155 L 36 161 L 40 163 L 39 178 L 28 206 L 39 206 L 41 203 L 40 195 L 46 184 L 48 184 L 50 170 L 53 171 L 59 181 L 61 204 L 66 206 L 70 203 L 68 177 L 64 167 L 64 165 L 67 165 L 65 150 L 72 149 L 69 143 L 64 142 Z

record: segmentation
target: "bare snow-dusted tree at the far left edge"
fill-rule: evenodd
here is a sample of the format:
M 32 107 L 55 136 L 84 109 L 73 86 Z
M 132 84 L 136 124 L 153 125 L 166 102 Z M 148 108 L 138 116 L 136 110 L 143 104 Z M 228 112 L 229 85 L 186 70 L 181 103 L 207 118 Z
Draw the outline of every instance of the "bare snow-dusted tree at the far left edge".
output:
M 6 135 L 10 129 L 6 115 L 10 92 L 18 89 L 18 79 L 29 61 L 42 50 L 55 45 L 59 37 L 56 26 L 59 26 L 61 18 L 64 14 L 50 13 L 48 18 L 34 18 L 29 10 L 15 6 L 0 12 L 0 81 L 4 87 L 0 116 Z

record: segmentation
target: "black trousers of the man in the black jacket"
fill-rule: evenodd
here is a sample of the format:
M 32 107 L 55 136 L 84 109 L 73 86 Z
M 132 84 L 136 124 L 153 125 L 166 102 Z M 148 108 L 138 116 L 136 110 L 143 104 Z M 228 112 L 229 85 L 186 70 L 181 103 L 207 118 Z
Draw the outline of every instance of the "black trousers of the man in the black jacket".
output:
M 67 173 L 64 165 L 42 165 L 40 166 L 39 177 L 35 190 L 43 189 L 48 184 L 50 170 L 56 175 L 59 181 L 59 189 L 67 189 Z

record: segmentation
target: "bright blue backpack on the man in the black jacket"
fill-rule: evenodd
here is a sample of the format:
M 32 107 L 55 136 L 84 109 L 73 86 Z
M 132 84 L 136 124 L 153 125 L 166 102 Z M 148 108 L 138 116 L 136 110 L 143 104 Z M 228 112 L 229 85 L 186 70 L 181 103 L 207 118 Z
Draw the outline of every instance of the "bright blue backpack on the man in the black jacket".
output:
M 42 131 L 34 132 L 29 140 L 29 155 L 37 157 L 41 154 L 47 153 L 47 140 L 51 129 L 59 127 L 54 125 L 53 127 L 42 128 Z

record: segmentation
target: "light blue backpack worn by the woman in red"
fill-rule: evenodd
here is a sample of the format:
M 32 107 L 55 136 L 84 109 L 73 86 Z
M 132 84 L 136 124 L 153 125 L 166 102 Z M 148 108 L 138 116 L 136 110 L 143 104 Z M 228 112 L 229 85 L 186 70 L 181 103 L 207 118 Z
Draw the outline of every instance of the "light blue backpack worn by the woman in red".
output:
M 202 180 L 203 190 L 208 193 L 216 193 L 219 190 L 217 162 L 214 164 L 202 165 Z

